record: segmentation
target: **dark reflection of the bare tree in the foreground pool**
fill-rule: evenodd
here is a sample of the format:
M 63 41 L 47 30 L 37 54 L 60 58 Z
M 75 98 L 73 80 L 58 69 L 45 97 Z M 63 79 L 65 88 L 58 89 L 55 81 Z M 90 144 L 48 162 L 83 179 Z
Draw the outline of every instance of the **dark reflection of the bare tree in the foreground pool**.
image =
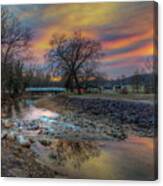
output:
M 53 146 L 54 151 L 49 157 L 60 166 L 69 163 L 74 168 L 80 168 L 85 161 L 100 155 L 98 144 L 94 141 L 71 142 L 58 140 L 54 142 Z

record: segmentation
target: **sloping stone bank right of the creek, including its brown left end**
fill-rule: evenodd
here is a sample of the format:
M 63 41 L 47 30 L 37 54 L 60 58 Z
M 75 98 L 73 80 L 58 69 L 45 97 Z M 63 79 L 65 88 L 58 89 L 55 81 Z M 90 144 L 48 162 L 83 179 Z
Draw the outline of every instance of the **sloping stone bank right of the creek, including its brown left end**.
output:
M 62 110 L 71 122 L 88 128 L 93 126 L 97 130 L 98 128 L 101 130 L 110 128 L 114 136 L 119 132 L 124 136 L 134 133 L 139 136 L 152 137 L 157 134 L 157 105 L 154 102 L 65 96 L 52 98 L 51 102 L 52 105 L 55 103 L 57 111 Z

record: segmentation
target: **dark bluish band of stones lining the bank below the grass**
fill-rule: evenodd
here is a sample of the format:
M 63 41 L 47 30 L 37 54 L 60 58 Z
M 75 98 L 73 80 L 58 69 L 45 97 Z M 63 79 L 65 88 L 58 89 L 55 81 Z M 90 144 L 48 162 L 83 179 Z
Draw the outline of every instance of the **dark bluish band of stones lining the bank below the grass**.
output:
M 155 107 L 149 103 L 71 97 L 67 102 L 68 105 L 77 108 L 80 112 L 95 116 L 103 115 L 105 117 L 110 114 L 113 122 L 119 121 L 121 124 L 135 123 L 144 126 L 156 124 Z

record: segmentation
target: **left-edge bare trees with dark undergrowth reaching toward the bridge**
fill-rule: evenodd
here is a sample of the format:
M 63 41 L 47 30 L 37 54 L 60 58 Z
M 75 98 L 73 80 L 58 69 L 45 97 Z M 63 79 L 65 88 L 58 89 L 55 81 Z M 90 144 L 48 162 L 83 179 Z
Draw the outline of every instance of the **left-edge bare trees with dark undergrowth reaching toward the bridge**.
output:
M 2 99 L 22 95 L 31 83 L 47 81 L 33 60 L 30 42 L 32 29 L 24 26 L 5 6 L 1 9 L 1 79 Z

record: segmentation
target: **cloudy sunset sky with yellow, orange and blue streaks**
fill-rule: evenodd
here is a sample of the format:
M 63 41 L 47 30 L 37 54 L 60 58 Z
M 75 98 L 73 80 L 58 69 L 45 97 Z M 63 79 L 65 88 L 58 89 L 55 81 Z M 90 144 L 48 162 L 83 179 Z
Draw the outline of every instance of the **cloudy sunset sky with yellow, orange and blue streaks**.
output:
M 18 19 L 33 30 L 36 64 L 44 64 L 53 34 L 80 30 L 100 41 L 104 56 L 99 70 L 108 78 L 130 76 L 154 59 L 154 2 L 10 5 Z

